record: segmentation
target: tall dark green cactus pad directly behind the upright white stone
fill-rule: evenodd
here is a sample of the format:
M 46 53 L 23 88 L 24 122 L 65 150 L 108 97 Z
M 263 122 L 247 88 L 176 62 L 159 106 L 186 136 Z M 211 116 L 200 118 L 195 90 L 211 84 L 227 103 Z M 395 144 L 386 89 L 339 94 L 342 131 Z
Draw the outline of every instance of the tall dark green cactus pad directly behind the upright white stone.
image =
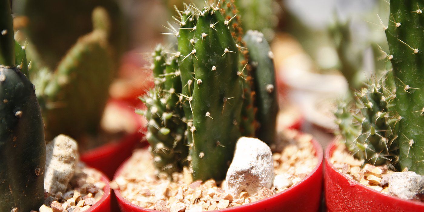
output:
M 214 7 L 206 6 L 196 25 L 191 128 L 194 180 L 224 179 L 240 137 L 243 91 L 237 75 L 238 49 L 225 21 Z

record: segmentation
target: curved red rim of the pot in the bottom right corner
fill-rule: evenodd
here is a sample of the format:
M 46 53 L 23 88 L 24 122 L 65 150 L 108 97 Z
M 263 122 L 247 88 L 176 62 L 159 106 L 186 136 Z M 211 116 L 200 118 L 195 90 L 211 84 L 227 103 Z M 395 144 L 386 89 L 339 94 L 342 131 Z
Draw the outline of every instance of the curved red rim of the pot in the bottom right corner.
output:
M 330 159 L 331 159 L 331 156 L 332 156 L 332 153 L 333 153 L 333 151 L 335 150 L 335 148 L 336 148 L 336 144 L 338 143 L 338 139 L 336 138 L 336 139 L 334 139 L 332 142 L 331 142 L 331 144 L 326 148 L 326 151 L 325 151 L 325 163 L 326 163 L 326 167 L 330 167 L 331 168 L 331 170 L 333 171 L 333 172 L 335 172 L 335 173 L 338 173 L 340 176 L 343 176 L 343 178 L 344 179 L 346 179 L 346 181 L 349 181 L 349 184 L 354 184 L 355 185 L 355 187 L 357 187 L 357 186 L 359 186 L 360 188 L 362 188 L 362 190 L 363 191 L 365 191 L 365 192 L 370 192 L 370 193 L 373 193 L 374 195 L 381 195 L 381 196 L 384 196 L 385 198 L 388 198 L 387 199 L 387 201 L 402 201 L 402 202 L 404 202 L 404 203 L 407 203 L 407 204 L 411 204 L 411 205 L 416 205 L 416 206 L 424 206 L 424 203 L 421 203 L 421 202 L 418 202 L 418 201 L 412 201 L 412 200 L 405 200 L 405 199 L 402 199 L 402 198 L 399 198 L 399 197 L 395 197 L 395 196 L 393 196 L 393 195 L 388 195 L 388 194 L 384 194 L 384 193 L 382 193 L 382 192 L 378 192 L 378 191 L 376 191 L 376 190 L 374 190 L 374 189 L 372 189 L 372 188 L 370 188 L 370 187 L 368 187 L 368 186 L 365 186 L 365 185 L 363 185 L 363 184 L 360 184 L 359 182 L 357 182 L 357 181 L 354 181 L 353 179 L 350 179 L 349 177 L 347 177 L 345 174 L 343 174 L 343 173 L 341 173 L 333 164 L 332 164 L 332 162 L 330 162 Z M 325 172 L 327 172 L 327 171 L 329 171 L 329 170 L 326 170 Z

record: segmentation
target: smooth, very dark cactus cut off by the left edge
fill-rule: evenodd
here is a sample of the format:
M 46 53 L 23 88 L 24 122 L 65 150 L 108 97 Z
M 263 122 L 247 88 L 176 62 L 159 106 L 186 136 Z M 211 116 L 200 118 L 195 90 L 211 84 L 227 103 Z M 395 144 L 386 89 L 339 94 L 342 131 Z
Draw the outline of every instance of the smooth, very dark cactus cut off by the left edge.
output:
M 15 62 L 25 55 L 15 57 L 9 1 L 1 0 L 0 8 L 0 211 L 38 210 L 44 202 L 44 124 L 34 86 L 19 68 L 25 65 Z

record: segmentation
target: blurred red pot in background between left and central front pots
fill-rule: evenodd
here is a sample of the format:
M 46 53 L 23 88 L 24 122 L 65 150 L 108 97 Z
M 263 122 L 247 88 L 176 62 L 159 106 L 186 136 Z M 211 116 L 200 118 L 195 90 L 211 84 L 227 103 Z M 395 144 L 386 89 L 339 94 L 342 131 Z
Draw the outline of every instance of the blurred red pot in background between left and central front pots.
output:
M 129 103 L 120 100 L 112 100 L 115 105 L 118 105 L 123 110 L 127 110 L 128 113 L 134 115 L 136 128 L 140 129 L 132 134 L 128 134 L 119 140 L 110 141 L 109 143 L 102 145 L 98 148 L 86 151 L 81 154 L 81 161 L 85 162 L 88 166 L 96 168 L 105 173 L 109 178 L 113 177 L 113 174 L 117 168 L 131 156 L 132 151 L 143 137 L 145 128 L 140 116 L 134 113 L 134 108 Z M 139 121 L 140 120 L 140 121 Z

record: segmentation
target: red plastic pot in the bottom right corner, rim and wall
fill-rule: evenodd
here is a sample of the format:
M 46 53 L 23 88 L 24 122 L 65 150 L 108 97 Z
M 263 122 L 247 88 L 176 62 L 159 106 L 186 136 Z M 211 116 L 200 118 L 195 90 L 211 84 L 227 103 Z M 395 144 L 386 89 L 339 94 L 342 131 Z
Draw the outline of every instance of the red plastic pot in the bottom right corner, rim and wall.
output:
M 325 152 L 324 190 L 329 212 L 423 212 L 424 203 L 386 195 L 349 179 L 330 162 L 336 142 Z

